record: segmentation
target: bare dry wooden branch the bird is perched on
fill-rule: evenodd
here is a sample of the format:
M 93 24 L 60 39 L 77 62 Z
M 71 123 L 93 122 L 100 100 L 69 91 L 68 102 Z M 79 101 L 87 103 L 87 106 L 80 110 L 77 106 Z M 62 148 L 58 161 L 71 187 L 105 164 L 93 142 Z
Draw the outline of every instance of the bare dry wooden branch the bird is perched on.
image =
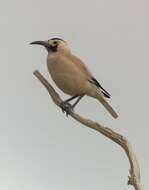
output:
M 51 96 L 53 102 L 60 107 L 60 104 L 62 103 L 62 99 L 58 95 L 58 93 L 54 90 L 54 88 L 49 84 L 49 82 L 40 74 L 39 71 L 35 71 L 34 75 L 39 79 L 39 81 L 45 86 L 47 89 L 49 95 Z M 77 120 L 78 122 L 82 123 L 83 125 L 92 128 L 104 136 L 108 137 L 115 143 L 119 144 L 123 150 L 125 151 L 129 163 L 130 163 L 130 171 L 129 171 L 129 176 L 128 176 L 128 185 L 132 185 L 135 190 L 143 190 L 143 186 L 141 184 L 141 179 L 140 179 L 140 168 L 139 168 L 139 163 L 137 161 L 136 155 L 132 149 L 131 144 L 128 142 L 128 140 L 116 133 L 115 131 L 111 130 L 108 127 L 104 127 L 94 121 L 91 121 L 89 119 L 86 119 L 74 111 L 70 112 L 70 116 Z

